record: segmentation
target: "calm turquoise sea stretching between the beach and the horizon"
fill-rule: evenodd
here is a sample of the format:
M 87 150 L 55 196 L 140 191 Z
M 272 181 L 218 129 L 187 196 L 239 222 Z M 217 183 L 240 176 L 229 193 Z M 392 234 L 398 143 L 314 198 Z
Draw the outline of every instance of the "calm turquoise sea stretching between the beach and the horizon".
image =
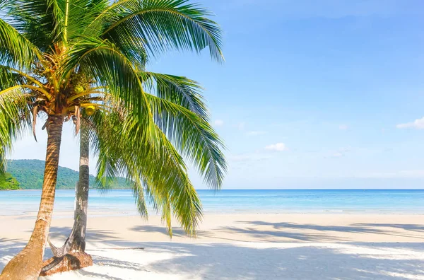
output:
M 424 189 L 201 189 L 205 214 L 424 214 Z M 41 190 L 0 191 L 0 215 L 38 210 Z M 75 191 L 56 192 L 55 213 L 73 211 Z M 90 189 L 89 214 L 136 215 L 131 189 Z M 151 214 L 155 214 L 150 209 Z M 55 214 L 56 215 L 56 214 Z

